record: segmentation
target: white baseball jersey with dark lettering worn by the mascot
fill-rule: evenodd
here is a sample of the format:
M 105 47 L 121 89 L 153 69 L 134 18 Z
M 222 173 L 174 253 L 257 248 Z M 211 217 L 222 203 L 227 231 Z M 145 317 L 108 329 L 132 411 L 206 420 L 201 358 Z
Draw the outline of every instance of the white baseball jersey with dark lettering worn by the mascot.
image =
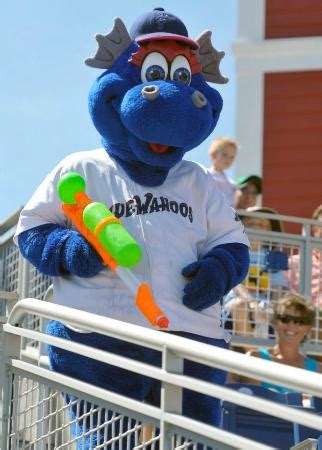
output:
M 45 178 L 23 209 L 19 233 L 46 223 L 70 227 L 56 193 L 60 177 L 69 171 L 86 180 L 87 195 L 107 205 L 142 247 L 133 268 L 147 282 L 155 301 L 170 320 L 170 330 L 228 339 L 221 326 L 221 305 L 201 312 L 182 303 L 187 281 L 181 270 L 216 245 L 249 245 L 241 222 L 216 188 L 210 173 L 197 163 L 181 161 L 161 186 L 131 180 L 104 149 L 74 153 Z M 135 307 L 133 294 L 108 268 L 92 278 L 54 277 L 54 301 L 91 313 L 149 327 Z

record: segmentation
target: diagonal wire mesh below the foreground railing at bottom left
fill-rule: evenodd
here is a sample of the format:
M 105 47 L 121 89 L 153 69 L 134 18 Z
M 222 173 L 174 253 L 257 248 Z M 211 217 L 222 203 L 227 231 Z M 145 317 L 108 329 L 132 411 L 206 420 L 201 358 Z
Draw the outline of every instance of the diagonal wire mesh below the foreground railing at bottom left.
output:
M 158 450 L 159 442 L 159 427 L 142 423 L 134 412 L 125 416 L 107 405 L 58 392 L 32 375 L 12 375 L 7 447 L 11 450 Z M 175 433 L 171 448 L 215 450 Z

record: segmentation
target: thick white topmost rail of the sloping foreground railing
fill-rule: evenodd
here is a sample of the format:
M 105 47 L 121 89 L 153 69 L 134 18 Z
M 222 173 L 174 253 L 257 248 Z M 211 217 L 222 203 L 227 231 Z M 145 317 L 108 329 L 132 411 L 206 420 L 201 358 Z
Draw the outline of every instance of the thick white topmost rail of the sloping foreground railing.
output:
M 127 323 L 126 327 L 124 327 L 124 322 L 119 320 L 80 310 L 77 310 L 76 314 L 73 308 L 45 303 L 36 299 L 23 299 L 15 305 L 9 316 L 8 324 L 4 325 L 5 332 L 20 334 L 18 330 L 15 332 L 14 329 L 21 325 L 24 317 L 30 313 L 47 319 L 68 323 L 79 329 L 123 339 L 155 350 L 162 351 L 166 347 L 176 355 L 180 355 L 191 361 L 229 370 L 230 372 L 239 373 L 259 380 L 268 380 L 278 385 L 290 386 L 292 389 L 301 392 L 321 396 L 322 376 L 320 374 L 266 360 L 261 360 L 260 364 L 258 364 L 258 358 L 255 357 L 219 347 L 214 348 L 207 344 L 173 336 L 164 332 L 156 332 L 155 330 L 138 325 Z M 30 330 L 24 331 L 30 332 Z M 24 331 L 22 331 L 22 334 Z M 44 341 L 51 339 L 50 336 L 43 336 Z

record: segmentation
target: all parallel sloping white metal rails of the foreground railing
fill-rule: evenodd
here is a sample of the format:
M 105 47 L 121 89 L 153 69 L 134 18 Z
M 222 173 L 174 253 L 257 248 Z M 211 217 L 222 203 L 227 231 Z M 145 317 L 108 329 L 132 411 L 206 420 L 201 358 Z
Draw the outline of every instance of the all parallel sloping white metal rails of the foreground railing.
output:
M 66 341 L 65 339 L 56 336 L 47 335 L 45 333 L 29 330 L 22 327 L 26 315 L 34 314 L 42 318 L 62 321 L 80 329 L 85 329 L 89 332 L 96 332 L 103 335 L 111 336 L 121 340 L 126 340 L 134 344 L 143 345 L 162 352 L 163 364 L 162 367 L 150 366 L 145 363 L 137 362 L 123 356 L 115 355 L 100 349 L 92 348 L 84 344 Z M 78 389 L 79 392 L 84 392 L 91 396 L 92 399 L 104 399 L 113 395 L 116 404 L 120 406 L 126 405 L 130 410 L 137 411 L 138 405 L 134 400 L 125 399 L 125 397 L 118 394 L 110 394 L 106 391 L 103 395 L 103 390 L 93 385 L 88 385 L 79 380 L 59 373 L 53 373 L 34 364 L 21 361 L 17 358 L 17 354 L 10 354 L 10 338 L 15 337 L 12 342 L 17 343 L 18 337 L 38 340 L 42 343 L 47 343 L 59 348 L 67 349 L 73 353 L 84 355 L 104 363 L 112 364 L 117 367 L 126 367 L 135 373 L 144 373 L 146 376 L 155 378 L 164 383 L 167 387 L 172 386 L 180 391 L 182 388 L 190 389 L 202 394 L 211 395 L 225 401 L 233 402 L 237 405 L 242 405 L 255 411 L 269 411 L 269 414 L 275 417 L 285 419 L 290 422 L 302 424 L 310 428 L 320 430 L 322 428 L 322 418 L 317 414 L 298 410 L 287 405 L 271 402 L 263 398 L 249 396 L 247 394 L 228 389 L 224 386 L 211 384 L 202 380 L 184 375 L 181 371 L 168 369 L 165 361 L 170 355 L 176 361 L 182 359 L 189 359 L 201 364 L 206 364 L 211 367 L 217 367 L 231 372 L 240 373 L 242 375 L 250 376 L 261 380 L 269 380 L 276 384 L 283 386 L 290 386 L 298 391 L 306 392 L 315 396 L 321 396 L 322 392 L 322 377 L 319 374 L 311 373 L 303 369 L 292 368 L 278 364 L 272 361 L 261 360 L 258 364 L 258 358 L 242 355 L 232 352 L 230 350 L 213 347 L 200 342 L 195 342 L 190 339 L 182 338 L 165 332 L 148 329 L 133 324 L 126 324 L 124 322 L 102 317 L 96 314 L 85 311 L 75 310 L 62 305 L 55 305 L 52 303 L 43 302 L 36 299 L 23 299 L 15 305 L 12 310 L 7 324 L 4 325 L 4 333 L 6 336 L 5 346 L 5 363 L 8 369 L 20 373 L 22 376 L 27 376 L 29 373 L 32 377 L 39 379 L 39 381 L 52 382 L 57 389 L 66 388 Z M 12 347 L 17 348 L 17 347 Z M 15 353 L 15 352 L 13 352 Z M 170 366 L 169 366 L 170 367 Z M 173 367 L 171 365 L 171 367 Z M 85 388 L 86 385 L 86 388 Z M 167 388 L 166 388 L 167 389 Z M 172 391 L 171 391 L 172 392 Z M 180 398 L 180 396 L 178 397 Z M 124 403 L 125 402 L 125 403 Z M 131 406 L 132 405 L 132 406 Z M 163 409 L 163 407 L 165 409 Z M 166 409 L 166 404 L 161 405 L 160 409 L 149 407 L 146 409 L 144 405 L 140 406 L 140 413 L 151 417 L 159 418 L 163 423 L 183 427 L 187 433 L 189 430 L 195 430 L 195 435 L 203 436 L 204 438 L 218 439 L 219 442 L 228 445 L 231 442 L 232 436 L 235 440 L 234 448 L 243 449 L 268 449 L 269 447 L 259 443 L 242 438 L 238 435 L 224 432 L 218 428 L 211 427 L 205 424 L 199 424 L 192 419 L 181 417 L 180 413 L 171 414 L 171 411 Z M 161 427 L 162 428 L 162 427 Z M 211 431 L 212 430 L 212 431 Z M 216 434 L 214 434 L 216 430 Z M 238 445 L 237 445 L 238 443 Z M 232 447 L 229 447 L 232 448 Z

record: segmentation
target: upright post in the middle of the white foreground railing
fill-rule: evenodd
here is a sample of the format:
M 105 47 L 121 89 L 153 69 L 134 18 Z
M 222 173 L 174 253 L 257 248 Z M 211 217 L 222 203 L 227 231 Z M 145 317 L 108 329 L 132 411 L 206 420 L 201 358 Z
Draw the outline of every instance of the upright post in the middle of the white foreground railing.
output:
M 167 347 L 162 352 L 162 369 L 166 372 L 182 374 L 183 358 L 171 352 Z M 182 413 L 182 388 L 162 382 L 161 386 L 161 410 L 162 412 L 171 412 L 175 414 Z M 160 423 L 160 450 L 173 450 L 171 432 L 172 426 L 164 418 Z

